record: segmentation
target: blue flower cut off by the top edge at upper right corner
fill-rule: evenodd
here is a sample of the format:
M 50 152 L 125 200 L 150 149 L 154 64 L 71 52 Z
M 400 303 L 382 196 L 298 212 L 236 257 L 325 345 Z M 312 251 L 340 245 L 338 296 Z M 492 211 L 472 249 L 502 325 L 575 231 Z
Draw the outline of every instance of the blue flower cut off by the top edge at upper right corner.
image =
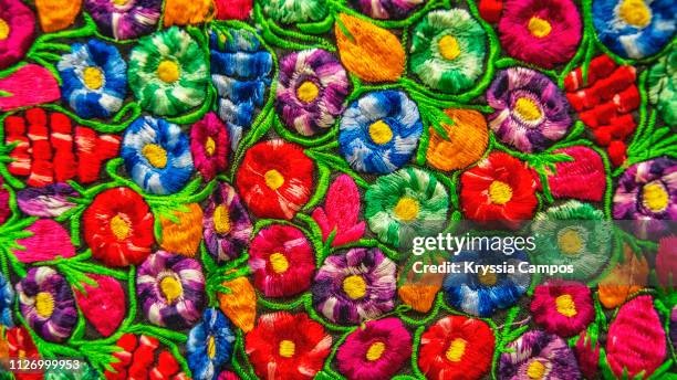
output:
M 674 0 L 595 0 L 592 12 L 600 41 L 623 57 L 658 53 L 677 28 Z

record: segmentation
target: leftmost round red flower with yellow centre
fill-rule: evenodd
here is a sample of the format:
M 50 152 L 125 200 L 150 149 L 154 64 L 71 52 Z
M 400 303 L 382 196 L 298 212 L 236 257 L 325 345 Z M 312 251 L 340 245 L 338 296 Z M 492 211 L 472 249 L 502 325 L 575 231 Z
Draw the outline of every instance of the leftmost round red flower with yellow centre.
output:
M 92 255 L 108 266 L 140 264 L 155 242 L 153 213 L 144 199 L 128 188 L 96 196 L 83 220 Z

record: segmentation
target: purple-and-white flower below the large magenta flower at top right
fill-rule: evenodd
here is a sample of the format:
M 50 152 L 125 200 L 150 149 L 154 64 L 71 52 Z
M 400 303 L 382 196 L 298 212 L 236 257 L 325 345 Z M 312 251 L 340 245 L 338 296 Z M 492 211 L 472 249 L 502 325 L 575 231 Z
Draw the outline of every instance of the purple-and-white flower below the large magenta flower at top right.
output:
M 521 151 L 541 151 L 566 135 L 569 103 L 545 75 L 524 67 L 499 71 L 487 91 L 496 109 L 489 126 L 497 138 Z

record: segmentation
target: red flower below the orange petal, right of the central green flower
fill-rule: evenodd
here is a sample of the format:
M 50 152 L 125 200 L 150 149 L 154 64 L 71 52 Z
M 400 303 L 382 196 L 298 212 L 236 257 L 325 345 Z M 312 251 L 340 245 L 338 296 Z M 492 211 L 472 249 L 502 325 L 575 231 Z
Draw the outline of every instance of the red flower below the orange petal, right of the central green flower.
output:
M 517 228 L 529 220 L 538 205 L 535 181 L 517 158 L 493 152 L 461 176 L 460 202 L 466 217 L 488 222 L 502 221 Z

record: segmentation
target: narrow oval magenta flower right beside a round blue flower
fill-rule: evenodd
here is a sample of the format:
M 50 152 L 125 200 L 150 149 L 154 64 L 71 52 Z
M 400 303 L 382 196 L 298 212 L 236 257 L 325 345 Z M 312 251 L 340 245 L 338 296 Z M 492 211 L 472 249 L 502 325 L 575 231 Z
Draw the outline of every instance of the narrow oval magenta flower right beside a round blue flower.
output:
M 208 113 L 190 129 L 190 152 L 195 168 L 211 181 L 226 170 L 230 139 L 223 122 L 215 113 Z

